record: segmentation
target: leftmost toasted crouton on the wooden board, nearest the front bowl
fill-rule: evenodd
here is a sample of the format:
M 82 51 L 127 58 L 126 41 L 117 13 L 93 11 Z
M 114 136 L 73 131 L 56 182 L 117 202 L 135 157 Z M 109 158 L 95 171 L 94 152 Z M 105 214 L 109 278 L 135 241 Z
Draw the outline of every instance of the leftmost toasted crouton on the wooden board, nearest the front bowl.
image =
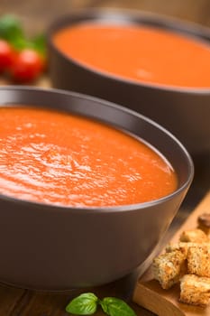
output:
M 153 260 L 152 272 L 154 279 L 160 282 L 163 289 L 169 289 L 178 283 L 186 272 L 186 256 L 179 250 L 162 254 Z

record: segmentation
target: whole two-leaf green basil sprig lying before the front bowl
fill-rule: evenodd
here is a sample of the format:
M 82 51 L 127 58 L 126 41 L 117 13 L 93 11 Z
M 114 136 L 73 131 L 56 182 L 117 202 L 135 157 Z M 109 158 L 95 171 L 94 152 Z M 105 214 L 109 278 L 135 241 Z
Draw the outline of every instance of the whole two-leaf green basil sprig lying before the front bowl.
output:
M 68 303 L 66 311 L 75 315 L 92 315 L 100 305 L 109 316 L 136 316 L 132 308 L 123 300 L 105 297 L 99 300 L 94 293 L 83 293 Z

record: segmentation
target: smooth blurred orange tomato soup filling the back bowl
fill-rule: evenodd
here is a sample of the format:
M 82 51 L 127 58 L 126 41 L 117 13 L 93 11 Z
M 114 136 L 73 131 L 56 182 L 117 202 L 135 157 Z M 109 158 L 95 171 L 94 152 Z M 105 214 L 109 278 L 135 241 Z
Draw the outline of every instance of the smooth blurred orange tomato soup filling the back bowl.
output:
M 88 68 L 142 83 L 210 88 L 210 45 L 137 25 L 80 23 L 55 33 L 54 45 Z

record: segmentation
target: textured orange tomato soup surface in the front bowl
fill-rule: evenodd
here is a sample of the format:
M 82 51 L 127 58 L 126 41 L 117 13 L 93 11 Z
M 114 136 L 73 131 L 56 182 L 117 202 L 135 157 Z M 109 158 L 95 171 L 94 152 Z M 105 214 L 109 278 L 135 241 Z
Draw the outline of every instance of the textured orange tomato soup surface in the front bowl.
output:
M 170 164 L 150 145 L 81 116 L 0 108 L 0 193 L 61 206 L 110 207 L 175 191 Z

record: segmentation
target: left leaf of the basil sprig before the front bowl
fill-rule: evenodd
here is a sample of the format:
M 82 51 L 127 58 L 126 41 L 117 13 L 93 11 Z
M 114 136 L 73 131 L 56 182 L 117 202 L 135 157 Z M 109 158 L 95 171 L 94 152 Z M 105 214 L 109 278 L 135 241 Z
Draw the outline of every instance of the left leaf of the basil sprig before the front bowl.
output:
M 68 303 L 66 311 L 75 315 L 92 315 L 96 312 L 97 301 L 94 293 L 83 293 Z

